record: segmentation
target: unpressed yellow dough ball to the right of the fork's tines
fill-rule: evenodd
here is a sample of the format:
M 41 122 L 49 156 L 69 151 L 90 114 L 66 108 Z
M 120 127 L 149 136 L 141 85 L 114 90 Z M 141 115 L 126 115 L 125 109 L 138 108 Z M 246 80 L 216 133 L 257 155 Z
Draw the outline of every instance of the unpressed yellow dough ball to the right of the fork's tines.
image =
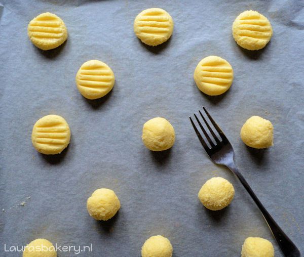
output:
M 273 146 L 273 124 L 259 116 L 247 119 L 241 128 L 241 139 L 250 147 L 261 149 Z

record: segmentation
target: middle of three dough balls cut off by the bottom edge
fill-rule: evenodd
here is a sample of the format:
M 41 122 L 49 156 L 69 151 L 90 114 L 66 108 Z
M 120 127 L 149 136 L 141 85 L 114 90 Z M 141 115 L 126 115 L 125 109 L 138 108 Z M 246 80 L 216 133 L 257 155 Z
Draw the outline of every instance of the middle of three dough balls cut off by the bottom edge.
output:
M 173 248 L 169 239 L 160 235 L 151 236 L 141 248 L 142 257 L 171 257 L 172 252 Z

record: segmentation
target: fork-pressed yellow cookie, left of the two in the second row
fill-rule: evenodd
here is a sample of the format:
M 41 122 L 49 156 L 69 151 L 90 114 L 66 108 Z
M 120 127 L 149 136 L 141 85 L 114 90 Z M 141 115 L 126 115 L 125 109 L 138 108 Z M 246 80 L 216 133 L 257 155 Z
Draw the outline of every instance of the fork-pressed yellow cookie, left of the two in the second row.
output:
M 85 62 L 77 72 L 76 84 L 79 92 L 87 99 L 97 99 L 109 93 L 114 85 L 113 71 L 98 60 Z

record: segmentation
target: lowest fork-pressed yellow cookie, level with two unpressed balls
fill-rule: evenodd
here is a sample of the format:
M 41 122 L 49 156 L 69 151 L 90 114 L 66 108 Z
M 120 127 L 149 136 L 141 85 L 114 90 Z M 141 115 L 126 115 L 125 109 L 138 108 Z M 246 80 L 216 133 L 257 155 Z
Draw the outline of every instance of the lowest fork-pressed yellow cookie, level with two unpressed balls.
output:
M 32 130 L 32 144 L 40 153 L 57 154 L 67 147 L 70 130 L 64 118 L 47 115 L 37 120 Z

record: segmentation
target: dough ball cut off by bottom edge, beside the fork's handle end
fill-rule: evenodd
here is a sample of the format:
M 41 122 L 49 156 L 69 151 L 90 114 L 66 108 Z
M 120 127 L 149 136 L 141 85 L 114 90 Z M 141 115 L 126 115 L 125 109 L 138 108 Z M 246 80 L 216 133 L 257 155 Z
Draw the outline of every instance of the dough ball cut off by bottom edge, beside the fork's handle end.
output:
M 242 257 L 274 257 L 272 243 L 260 237 L 248 237 L 242 246 Z

